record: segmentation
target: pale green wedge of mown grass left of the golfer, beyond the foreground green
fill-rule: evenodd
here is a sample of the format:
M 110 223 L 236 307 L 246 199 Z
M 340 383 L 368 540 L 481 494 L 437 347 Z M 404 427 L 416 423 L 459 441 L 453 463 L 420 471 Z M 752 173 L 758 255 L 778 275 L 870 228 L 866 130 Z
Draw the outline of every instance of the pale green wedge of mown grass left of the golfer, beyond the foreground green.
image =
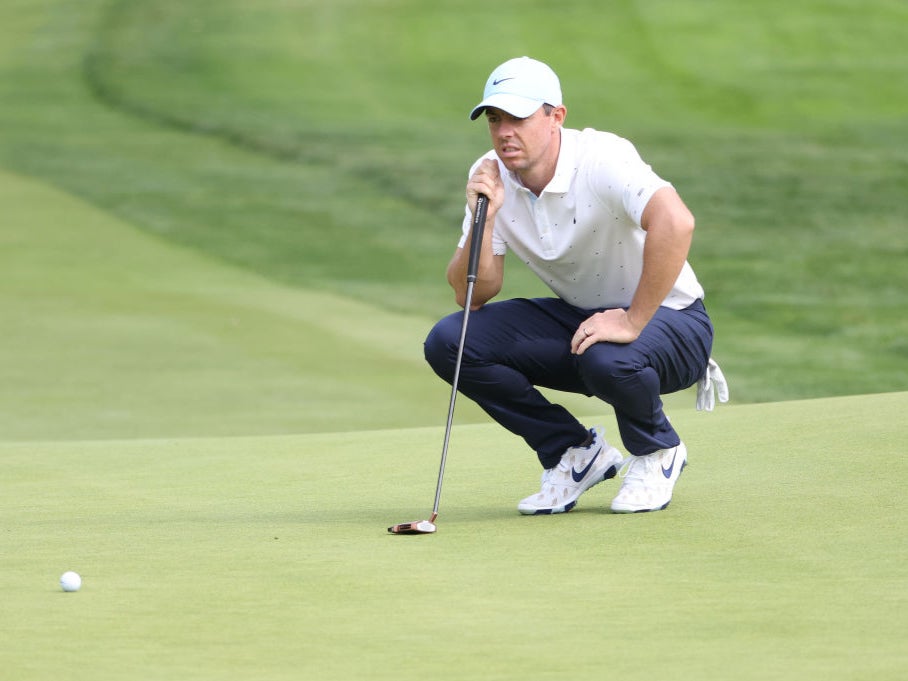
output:
M 2 170 L 0 202 L 4 440 L 334 432 L 443 414 L 448 389 L 422 358 L 428 319 L 275 284 Z

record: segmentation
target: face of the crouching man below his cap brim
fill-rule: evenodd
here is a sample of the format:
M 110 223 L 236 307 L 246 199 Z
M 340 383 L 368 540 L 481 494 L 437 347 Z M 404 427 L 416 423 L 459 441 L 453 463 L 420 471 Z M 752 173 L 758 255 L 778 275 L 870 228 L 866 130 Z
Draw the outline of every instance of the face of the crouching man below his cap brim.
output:
M 554 170 L 564 113 L 564 107 L 555 107 L 546 115 L 545 107 L 539 107 L 533 115 L 517 118 L 501 109 L 486 109 L 492 145 L 505 167 L 518 174 L 549 165 Z

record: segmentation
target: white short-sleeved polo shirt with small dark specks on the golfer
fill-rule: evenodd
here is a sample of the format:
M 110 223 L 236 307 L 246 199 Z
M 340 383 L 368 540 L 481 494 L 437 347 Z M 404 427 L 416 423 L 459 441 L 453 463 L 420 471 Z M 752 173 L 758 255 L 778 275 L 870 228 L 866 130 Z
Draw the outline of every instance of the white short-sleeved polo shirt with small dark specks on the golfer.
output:
M 477 160 L 470 175 L 486 158 Z M 537 198 L 501 161 L 504 205 L 495 218 L 492 250 L 511 250 L 563 300 L 585 309 L 628 307 L 643 269 L 643 209 L 671 186 L 644 163 L 634 145 L 608 132 L 562 129 L 555 176 Z M 472 224 L 469 208 L 460 247 Z M 662 302 L 683 309 L 703 297 L 685 262 Z

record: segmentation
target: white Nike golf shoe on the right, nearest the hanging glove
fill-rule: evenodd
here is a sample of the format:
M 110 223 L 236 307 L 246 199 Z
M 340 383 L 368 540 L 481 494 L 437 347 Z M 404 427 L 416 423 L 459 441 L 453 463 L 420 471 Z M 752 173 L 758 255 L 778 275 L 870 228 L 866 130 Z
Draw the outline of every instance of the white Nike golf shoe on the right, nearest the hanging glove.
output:
M 612 500 L 615 513 L 661 511 L 672 500 L 678 476 L 687 465 L 687 447 L 682 442 L 646 456 L 629 456 L 622 471 L 624 482 Z

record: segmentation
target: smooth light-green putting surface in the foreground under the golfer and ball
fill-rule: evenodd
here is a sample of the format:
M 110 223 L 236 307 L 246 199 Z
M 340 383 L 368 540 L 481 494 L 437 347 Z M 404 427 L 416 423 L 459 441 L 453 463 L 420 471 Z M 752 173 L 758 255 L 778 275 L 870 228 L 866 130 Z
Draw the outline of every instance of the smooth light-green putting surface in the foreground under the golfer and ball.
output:
M 0 669 L 45 679 L 874 679 L 908 668 L 908 393 L 673 420 L 663 513 L 523 517 L 490 424 L 2 443 Z M 614 438 L 614 424 L 605 421 Z M 82 574 L 63 593 L 65 570 Z

